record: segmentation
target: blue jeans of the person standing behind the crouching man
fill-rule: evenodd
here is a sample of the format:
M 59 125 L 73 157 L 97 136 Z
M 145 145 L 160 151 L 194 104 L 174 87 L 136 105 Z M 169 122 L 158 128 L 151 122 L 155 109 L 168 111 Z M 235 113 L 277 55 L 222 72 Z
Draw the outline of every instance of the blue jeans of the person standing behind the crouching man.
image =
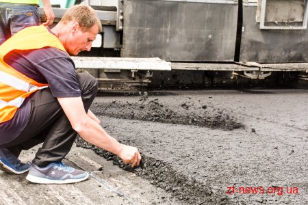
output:
M 0 3 L 0 44 L 15 33 L 40 25 L 37 5 Z

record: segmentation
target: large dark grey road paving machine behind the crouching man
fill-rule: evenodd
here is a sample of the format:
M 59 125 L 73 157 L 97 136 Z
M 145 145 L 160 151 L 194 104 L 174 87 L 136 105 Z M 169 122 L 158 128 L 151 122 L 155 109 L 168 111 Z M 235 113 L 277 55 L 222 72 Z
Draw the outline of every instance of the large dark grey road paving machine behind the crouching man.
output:
M 307 0 L 77 0 L 54 3 L 55 22 L 75 4 L 103 25 L 90 53 L 72 57 L 101 90 L 307 85 Z

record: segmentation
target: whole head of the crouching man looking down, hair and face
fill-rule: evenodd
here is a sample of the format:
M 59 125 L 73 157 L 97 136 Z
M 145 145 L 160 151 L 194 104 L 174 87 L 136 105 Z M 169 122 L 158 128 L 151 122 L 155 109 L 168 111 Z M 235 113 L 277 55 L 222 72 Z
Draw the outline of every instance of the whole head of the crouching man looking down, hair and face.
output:
M 90 51 L 93 40 L 101 33 L 101 20 L 88 5 L 75 5 L 62 17 L 52 29 L 66 51 L 77 55 L 80 51 Z

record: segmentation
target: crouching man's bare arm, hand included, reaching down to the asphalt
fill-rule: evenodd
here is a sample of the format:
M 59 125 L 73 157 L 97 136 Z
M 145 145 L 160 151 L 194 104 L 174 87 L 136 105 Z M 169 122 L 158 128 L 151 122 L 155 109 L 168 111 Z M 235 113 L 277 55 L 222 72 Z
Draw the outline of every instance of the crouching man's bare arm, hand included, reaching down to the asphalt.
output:
M 77 131 L 82 138 L 99 148 L 103 148 L 104 150 L 118 155 L 125 163 L 131 163 L 131 167 L 140 164 L 141 155 L 138 149 L 119 143 L 114 137 L 108 135 L 108 133 L 86 113 L 81 97 L 57 98 L 57 100 L 73 129 Z

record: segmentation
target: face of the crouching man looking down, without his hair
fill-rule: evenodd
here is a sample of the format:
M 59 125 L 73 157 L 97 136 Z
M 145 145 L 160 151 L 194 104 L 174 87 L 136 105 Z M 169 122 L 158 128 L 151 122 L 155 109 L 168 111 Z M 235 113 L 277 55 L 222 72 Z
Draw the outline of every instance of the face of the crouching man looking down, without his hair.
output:
M 68 40 L 66 42 L 66 51 L 70 55 L 78 55 L 81 51 L 90 51 L 92 42 L 97 37 L 99 28 L 93 25 L 90 29 L 83 31 L 77 24 L 73 27 Z

